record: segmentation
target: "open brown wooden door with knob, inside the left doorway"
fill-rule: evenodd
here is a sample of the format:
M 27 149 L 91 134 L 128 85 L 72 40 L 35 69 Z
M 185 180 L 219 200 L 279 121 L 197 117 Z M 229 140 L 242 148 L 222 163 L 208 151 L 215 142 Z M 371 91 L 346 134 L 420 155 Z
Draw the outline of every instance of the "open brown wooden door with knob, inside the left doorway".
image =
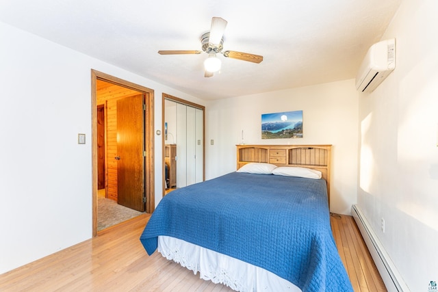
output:
M 144 95 L 117 101 L 117 202 L 140 212 L 144 196 Z

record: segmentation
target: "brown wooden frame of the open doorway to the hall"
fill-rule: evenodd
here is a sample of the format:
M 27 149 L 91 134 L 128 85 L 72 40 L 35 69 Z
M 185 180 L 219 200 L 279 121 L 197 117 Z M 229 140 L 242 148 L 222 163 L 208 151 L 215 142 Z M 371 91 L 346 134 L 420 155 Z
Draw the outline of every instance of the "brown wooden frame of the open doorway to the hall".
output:
M 92 236 L 97 236 L 97 92 L 96 80 L 113 83 L 124 88 L 136 90 L 146 96 L 146 109 L 144 118 L 144 150 L 146 151 L 144 165 L 144 183 L 146 195 L 146 213 L 152 213 L 155 209 L 155 163 L 154 163 L 154 90 L 142 85 L 107 75 L 91 69 L 91 117 L 92 117 Z

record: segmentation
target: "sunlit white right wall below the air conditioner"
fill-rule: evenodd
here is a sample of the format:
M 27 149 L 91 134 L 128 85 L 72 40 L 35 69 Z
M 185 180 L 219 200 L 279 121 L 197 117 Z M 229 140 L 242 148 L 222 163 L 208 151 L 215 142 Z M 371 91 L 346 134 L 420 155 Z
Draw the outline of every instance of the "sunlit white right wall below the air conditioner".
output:
M 437 15 L 438 1 L 402 1 L 383 36 L 396 70 L 359 96 L 359 208 L 411 291 L 438 282 Z

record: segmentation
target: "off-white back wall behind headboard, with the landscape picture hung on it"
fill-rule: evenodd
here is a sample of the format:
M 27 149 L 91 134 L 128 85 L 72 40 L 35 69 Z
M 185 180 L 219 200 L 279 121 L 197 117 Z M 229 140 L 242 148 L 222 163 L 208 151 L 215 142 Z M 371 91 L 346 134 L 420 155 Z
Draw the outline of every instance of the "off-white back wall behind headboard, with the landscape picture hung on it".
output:
M 261 114 L 296 110 L 303 111 L 303 138 L 261 140 Z M 207 179 L 235 171 L 242 130 L 245 144 L 333 144 L 331 211 L 350 214 L 357 196 L 358 112 L 352 79 L 211 101 L 206 109 Z

